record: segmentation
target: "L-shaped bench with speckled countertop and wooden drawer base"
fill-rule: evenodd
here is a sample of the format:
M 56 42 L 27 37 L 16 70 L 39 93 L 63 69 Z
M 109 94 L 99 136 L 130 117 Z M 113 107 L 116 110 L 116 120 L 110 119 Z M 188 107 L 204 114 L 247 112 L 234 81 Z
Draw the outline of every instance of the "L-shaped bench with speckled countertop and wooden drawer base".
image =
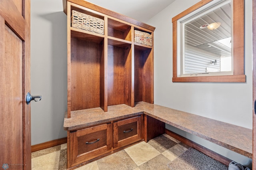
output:
M 71 142 L 72 144 L 68 144 L 68 162 L 70 163 L 70 167 L 89 163 L 142 140 L 147 142 L 148 140 L 165 133 L 165 123 L 242 154 L 248 158 L 252 158 L 251 129 L 170 109 L 160 105 L 146 102 L 135 103 L 135 107 L 130 107 L 124 104 L 114 105 L 108 107 L 108 112 L 104 112 L 101 108 L 85 109 L 72 112 L 71 117 L 72 118 L 64 119 L 64 129 L 68 131 L 68 141 L 78 141 L 76 138 L 81 137 L 74 135 L 74 133 L 81 131 L 81 129 L 90 129 L 90 133 L 93 133 L 94 128 L 96 129 L 96 127 L 99 127 L 100 125 L 109 125 L 111 129 L 108 134 L 109 139 L 103 138 L 104 145 L 100 145 L 100 148 L 97 148 L 107 148 L 109 144 L 109 149 L 106 149 L 106 152 L 96 152 L 95 156 L 92 156 L 91 158 L 86 157 L 86 159 L 82 159 L 80 162 L 76 162 L 76 160 L 79 160 L 79 157 L 82 157 L 87 153 L 79 153 L 82 149 L 75 146 L 77 143 Z M 133 128 L 132 130 L 136 132 L 132 133 L 132 131 L 130 131 L 132 134 L 127 136 L 128 140 L 127 138 L 121 139 L 121 141 L 126 140 L 126 144 L 123 144 L 121 148 L 115 148 L 114 145 L 118 141 L 116 139 L 119 137 L 118 135 L 120 133 L 125 133 L 125 130 L 129 131 L 134 127 L 134 124 L 130 123 L 130 127 L 127 126 L 126 128 L 119 129 L 116 127 L 118 126 L 118 123 L 116 122 L 133 118 L 137 119 L 138 117 L 140 121 L 134 123 L 137 128 Z M 112 130 L 112 128 L 118 129 L 119 131 L 116 132 L 115 130 Z M 236 133 L 234 133 L 234 129 Z M 135 140 L 132 139 L 134 136 L 136 136 Z M 97 139 L 99 139 L 98 142 L 100 142 L 101 138 L 99 136 L 93 136 L 93 141 L 87 141 L 85 138 L 83 147 L 86 147 L 86 142 L 94 142 Z M 96 142 L 94 145 L 98 146 Z M 94 150 L 86 151 L 91 153 L 95 152 L 97 149 L 94 148 Z

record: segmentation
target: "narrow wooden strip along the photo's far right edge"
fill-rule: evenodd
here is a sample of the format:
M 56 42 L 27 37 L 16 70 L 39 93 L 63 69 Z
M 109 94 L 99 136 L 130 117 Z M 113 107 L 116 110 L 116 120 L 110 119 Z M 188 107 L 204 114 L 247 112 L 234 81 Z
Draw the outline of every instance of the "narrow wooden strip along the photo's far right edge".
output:
M 253 129 L 252 129 L 252 169 L 256 170 L 256 0 L 252 1 L 252 47 L 253 47 Z

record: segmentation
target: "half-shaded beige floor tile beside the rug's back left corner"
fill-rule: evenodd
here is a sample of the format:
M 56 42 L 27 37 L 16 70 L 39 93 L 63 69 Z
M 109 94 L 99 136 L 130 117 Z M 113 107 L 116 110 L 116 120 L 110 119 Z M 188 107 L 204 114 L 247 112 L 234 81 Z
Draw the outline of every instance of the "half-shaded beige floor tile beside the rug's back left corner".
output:
M 172 148 L 164 151 L 162 154 L 168 158 L 170 161 L 173 161 L 174 159 L 176 159 L 178 156 L 180 156 L 183 152 L 185 152 L 186 150 L 188 150 L 187 148 L 185 148 L 184 146 L 180 145 L 180 144 L 176 144 L 175 146 L 173 146 Z

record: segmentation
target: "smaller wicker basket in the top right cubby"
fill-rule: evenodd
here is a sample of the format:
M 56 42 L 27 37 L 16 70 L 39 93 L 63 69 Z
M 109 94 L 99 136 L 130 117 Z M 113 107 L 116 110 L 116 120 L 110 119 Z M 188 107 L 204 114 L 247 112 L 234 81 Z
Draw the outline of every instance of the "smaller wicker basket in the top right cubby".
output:
M 134 30 L 134 42 L 152 46 L 152 35 L 146 32 Z

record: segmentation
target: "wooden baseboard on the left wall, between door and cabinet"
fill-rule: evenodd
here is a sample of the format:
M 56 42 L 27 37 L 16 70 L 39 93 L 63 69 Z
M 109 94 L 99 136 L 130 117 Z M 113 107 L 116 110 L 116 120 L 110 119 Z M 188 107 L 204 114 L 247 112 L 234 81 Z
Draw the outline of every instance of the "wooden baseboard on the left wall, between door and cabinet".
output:
M 40 143 L 40 144 L 35 144 L 35 145 L 31 146 L 31 152 L 36 152 L 38 150 L 47 149 L 47 148 L 50 148 L 53 146 L 64 144 L 66 142 L 67 142 L 67 138 L 60 138 L 60 139 L 55 139 L 55 140 L 51 140 L 51 141 Z

